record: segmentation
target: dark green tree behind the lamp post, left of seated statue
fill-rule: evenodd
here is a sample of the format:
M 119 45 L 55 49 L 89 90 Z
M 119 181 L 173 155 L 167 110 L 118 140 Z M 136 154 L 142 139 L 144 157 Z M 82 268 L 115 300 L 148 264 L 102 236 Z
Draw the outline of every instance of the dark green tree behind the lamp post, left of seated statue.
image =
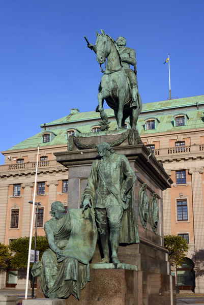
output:
M 9 245 L 13 256 L 10 259 L 10 266 L 12 268 L 27 268 L 27 258 L 28 258 L 28 249 L 29 249 L 29 240 L 30 237 L 20 237 L 17 239 L 12 240 Z M 31 248 L 34 249 L 35 245 L 35 237 L 32 237 L 32 246 Z M 49 248 L 49 244 L 47 241 L 46 236 L 37 236 L 36 240 L 36 250 L 40 252 L 39 260 L 43 255 L 43 252 Z M 30 265 L 32 267 L 32 265 Z

